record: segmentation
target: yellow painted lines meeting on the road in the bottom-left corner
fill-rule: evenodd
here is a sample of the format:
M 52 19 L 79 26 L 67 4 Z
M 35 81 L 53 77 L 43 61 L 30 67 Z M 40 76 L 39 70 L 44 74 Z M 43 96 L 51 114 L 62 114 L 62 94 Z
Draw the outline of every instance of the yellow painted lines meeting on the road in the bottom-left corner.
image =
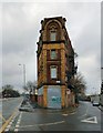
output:
M 0 117 L 2 117 L 2 120 L 4 121 L 4 124 L 0 129 L 0 133 L 3 133 L 3 131 L 6 130 L 6 127 L 10 123 L 10 121 L 12 120 L 12 117 L 17 114 L 17 111 L 18 111 L 18 109 L 11 114 L 11 116 L 8 120 L 6 120 L 2 115 L 0 115 Z

